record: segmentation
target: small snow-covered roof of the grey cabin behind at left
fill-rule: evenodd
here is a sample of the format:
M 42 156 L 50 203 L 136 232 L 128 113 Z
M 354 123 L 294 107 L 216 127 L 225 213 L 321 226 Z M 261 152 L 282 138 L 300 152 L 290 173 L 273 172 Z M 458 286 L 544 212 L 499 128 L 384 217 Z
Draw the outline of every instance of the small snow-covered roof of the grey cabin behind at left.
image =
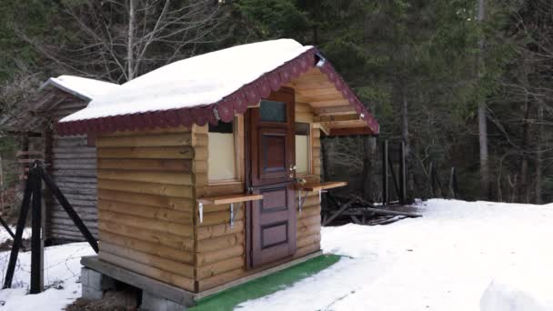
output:
M 79 96 L 86 101 L 91 101 L 99 95 L 104 95 L 120 86 L 105 81 L 75 75 L 60 75 L 58 77 L 51 77 L 40 86 L 40 89 L 42 90 L 49 85 L 53 85 L 67 93 Z

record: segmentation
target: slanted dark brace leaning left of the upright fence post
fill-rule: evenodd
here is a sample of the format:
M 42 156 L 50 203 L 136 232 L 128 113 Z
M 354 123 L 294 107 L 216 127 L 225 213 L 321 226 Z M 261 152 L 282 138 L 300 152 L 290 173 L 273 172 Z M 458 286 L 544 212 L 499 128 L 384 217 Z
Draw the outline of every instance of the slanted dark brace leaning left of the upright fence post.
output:
M 29 175 L 31 172 L 29 172 Z M 19 211 L 19 218 L 17 219 L 17 228 L 15 230 L 14 244 L 12 245 L 12 251 L 10 253 L 10 260 L 7 265 L 7 271 L 5 272 L 4 287 L 10 288 L 12 286 L 12 280 L 14 279 L 15 264 L 17 264 L 17 255 L 19 254 L 19 247 L 22 245 L 23 229 L 25 228 L 25 220 L 29 211 L 29 205 L 31 203 L 31 195 L 33 194 L 33 184 L 35 178 L 27 178 L 25 183 L 25 194 L 23 196 L 23 202 L 21 203 L 21 209 Z

